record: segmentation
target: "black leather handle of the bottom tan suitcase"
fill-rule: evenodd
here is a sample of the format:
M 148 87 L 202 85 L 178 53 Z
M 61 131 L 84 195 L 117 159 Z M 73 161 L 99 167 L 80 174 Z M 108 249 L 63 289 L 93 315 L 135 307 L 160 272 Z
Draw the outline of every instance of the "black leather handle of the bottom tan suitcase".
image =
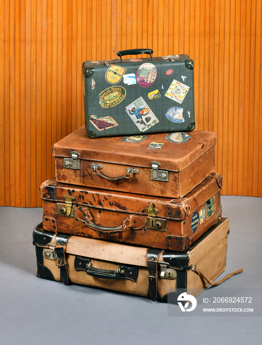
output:
M 85 271 L 88 275 L 96 276 L 98 278 L 106 278 L 106 279 L 129 279 L 132 281 L 136 281 L 138 276 L 138 267 L 136 266 L 128 266 L 122 265 L 120 266 L 119 274 L 116 274 L 114 271 L 109 270 L 101 270 L 93 268 L 89 271 L 88 264 L 91 262 L 91 258 L 83 257 L 83 256 L 75 256 L 74 260 L 74 269 L 75 271 Z

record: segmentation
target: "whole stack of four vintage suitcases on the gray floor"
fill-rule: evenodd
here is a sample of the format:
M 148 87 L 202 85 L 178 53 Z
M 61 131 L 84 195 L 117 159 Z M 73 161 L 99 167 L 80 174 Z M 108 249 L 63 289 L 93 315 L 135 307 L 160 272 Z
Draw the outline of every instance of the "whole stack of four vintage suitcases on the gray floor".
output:
M 150 58 L 122 60 L 124 55 Z M 83 64 L 85 126 L 53 146 L 37 276 L 167 301 L 226 267 L 216 135 L 196 131 L 193 61 L 150 49 Z

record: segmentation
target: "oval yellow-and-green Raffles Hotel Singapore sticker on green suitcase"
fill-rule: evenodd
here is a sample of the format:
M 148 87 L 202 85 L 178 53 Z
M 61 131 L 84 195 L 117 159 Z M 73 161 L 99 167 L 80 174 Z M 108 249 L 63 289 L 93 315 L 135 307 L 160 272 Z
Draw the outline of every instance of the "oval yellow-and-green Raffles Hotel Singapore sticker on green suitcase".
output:
M 122 102 L 127 91 L 123 86 L 111 86 L 99 94 L 99 104 L 102 108 L 109 108 Z

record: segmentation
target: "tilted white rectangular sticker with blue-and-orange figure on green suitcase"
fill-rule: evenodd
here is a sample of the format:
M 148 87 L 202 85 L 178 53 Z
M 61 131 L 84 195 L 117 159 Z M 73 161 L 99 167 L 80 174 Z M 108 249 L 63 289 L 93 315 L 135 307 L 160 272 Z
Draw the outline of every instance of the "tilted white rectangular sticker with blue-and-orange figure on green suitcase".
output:
M 156 115 L 142 97 L 139 97 L 133 103 L 129 104 L 126 107 L 126 111 L 141 132 L 148 130 L 159 122 Z

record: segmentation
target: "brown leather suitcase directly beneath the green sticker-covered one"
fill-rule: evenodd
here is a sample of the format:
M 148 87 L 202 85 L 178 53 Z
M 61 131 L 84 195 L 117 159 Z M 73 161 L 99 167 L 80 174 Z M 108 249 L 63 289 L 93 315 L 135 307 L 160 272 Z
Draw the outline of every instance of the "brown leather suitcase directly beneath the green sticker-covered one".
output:
M 216 134 L 91 139 L 81 127 L 53 146 L 58 182 L 182 198 L 215 170 Z

